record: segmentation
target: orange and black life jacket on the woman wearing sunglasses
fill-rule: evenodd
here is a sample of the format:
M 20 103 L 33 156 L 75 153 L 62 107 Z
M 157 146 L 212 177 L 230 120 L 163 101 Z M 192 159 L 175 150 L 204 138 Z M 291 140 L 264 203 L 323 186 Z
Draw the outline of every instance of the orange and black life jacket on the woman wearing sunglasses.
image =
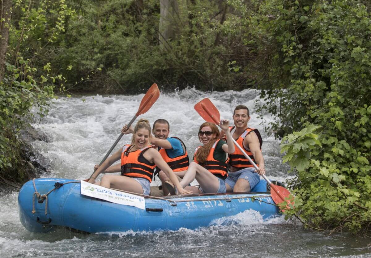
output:
M 215 152 L 215 148 L 216 146 L 218 145 L 218 142 L 220 141 L 221 139 L 218 139 L 216 140 L 216 142 L 214 142 L 213 146 L 211 147 L 210 149 L 210 152 L 209 152 L 209 155 L 207 155 L 207 158 L 206 158 L 206 161 L 202 164 L 200 164 L 201 166 L 203 166 L 204 168 L 206 168 L 209 172 L 213 173 L 213 175 L 225 180 L 228 176 L 227 174 L 227 164 L 228 164 L 228 159 L 226 159 L 225 162 L 221 162 L 221 161 L 217 161 L 215 158 L 214 158 L 214 152 Z M 198 146 L 194 152 L 194 156 L 193 156 L 193 161 L 196 162 L 198 164 L 198 161 L 197 161 L 197 150 L 200 149 L 202 146 Z

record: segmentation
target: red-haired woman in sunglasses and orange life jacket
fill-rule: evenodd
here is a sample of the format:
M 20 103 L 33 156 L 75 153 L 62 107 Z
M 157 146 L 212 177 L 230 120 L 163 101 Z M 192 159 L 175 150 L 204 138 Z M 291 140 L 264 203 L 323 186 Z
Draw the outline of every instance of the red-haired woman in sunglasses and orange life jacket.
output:
M 227 178 L 228 154 L 234 152 L 232 136 L 229 132 L 229 121 L 221 120 L 220 127 L 223 129 L 227 142 L 218 139 L 219 130 L 213 123 L 205 122 L 200 126 L 198 139 L 203 144 L 196 148 L 193 162 L 189 165 L 180 182 L 184 188 L 195 178 L 200 184 L 200 193 L 225 193 Z M 175 189 L 170 184 L 165 184 L 171 194 Z

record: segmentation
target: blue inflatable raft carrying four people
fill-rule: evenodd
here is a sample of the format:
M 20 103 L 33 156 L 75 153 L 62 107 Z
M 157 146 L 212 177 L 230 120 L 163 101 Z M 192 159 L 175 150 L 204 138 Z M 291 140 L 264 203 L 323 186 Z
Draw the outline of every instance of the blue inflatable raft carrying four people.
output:
M 47 198 L 38 197 L 35 187 L 40 195 L 50 192 Z M 88 233 L 195 229 L 248 209 L 263 219 L 279 215 L 264 180 L 249 193 L 145 198 L 145 209 L 139 209 L 81 195 L 79 181 L 44 178 L 35 179 L 35 186 L 33 181 L 25 183 L 18 203 L 20 221 L 31 232 L 55 226 Z

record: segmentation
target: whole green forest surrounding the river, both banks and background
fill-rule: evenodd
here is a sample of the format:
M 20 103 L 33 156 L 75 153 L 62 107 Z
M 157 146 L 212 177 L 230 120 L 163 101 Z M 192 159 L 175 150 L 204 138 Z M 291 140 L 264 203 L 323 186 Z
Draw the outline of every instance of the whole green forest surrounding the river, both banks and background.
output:
M 370 1 L 3 0 L 0 175 L 24 180 L 19 132 L 50 100 L 256 88 L 307 225 L 371 225 Z M 35 111 L 36 110 L 36 111 Z

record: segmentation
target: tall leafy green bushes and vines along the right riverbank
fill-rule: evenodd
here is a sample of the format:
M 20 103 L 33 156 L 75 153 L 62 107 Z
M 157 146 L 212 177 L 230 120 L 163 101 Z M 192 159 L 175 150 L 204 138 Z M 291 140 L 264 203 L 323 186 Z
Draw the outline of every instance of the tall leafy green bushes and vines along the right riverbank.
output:
M 370 231 L 370 11 L 354 0 L 265 1 L 243 22 L 253 51 L 271 53 L 261 108 L 277 115 L 272 129 L 297 171 L 288 216 Z

